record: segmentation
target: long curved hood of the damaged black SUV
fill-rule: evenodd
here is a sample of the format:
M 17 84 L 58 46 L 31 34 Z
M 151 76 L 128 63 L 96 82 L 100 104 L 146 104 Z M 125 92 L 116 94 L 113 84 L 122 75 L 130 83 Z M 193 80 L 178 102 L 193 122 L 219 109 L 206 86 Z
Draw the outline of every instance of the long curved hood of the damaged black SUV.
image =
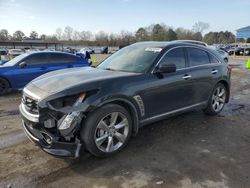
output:
M 92 67 L 71 68 L 44 74 L 33 80 L 30 84 L 47 93 L 57 93 L 77 85 L 137 74 L 108 71 Z

